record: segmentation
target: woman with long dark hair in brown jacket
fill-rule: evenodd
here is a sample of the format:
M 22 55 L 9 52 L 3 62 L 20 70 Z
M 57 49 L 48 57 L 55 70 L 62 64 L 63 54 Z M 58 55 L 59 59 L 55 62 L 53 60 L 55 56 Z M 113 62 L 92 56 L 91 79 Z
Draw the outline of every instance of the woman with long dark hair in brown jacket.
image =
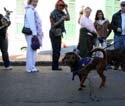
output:
M 101 43 L 101 46 L 103 48 L 106 48 L 107 47 L 106 39 L 111 33 L 111 25 L 110 22 L 107 19 L 105 19 L 102 10 L 97 10 L 95 15 L 94 26 L 98 33 L 96 46 L 99 46 L 99 44 Z

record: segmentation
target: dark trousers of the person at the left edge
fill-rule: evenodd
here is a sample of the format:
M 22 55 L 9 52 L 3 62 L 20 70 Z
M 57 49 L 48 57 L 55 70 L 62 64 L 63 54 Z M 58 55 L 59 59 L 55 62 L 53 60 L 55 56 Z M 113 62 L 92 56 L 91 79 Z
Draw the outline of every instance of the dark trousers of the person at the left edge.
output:
M 2 59 L 5 67 L 10 66 L 8 55 L 8 39 L 0 36 L 0 50 L 2 52 Z

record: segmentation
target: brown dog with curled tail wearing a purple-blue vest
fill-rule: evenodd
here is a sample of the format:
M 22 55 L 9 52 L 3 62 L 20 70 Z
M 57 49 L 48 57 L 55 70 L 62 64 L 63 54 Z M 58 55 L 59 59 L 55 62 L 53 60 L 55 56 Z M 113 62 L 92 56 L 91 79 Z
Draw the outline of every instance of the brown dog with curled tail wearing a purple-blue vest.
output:
M 92 54 L 97 51 L 101 51 L 103 53 L 103 57 L 92 57 Z M 85 87 L 84 82 L 87 79 L 89 72 L 93 69 L 96 69 L 97 73 L 101 77 L 102 81 L 99 87 L 101 88 L 105 86 L 106 76 L 104 75 L 104 70 L 107 63 L 106 52 L 103 48 L 94 48 L 90 51 L 88 57 L 92 58 L 92 61 L 84 65 L 81 64 L 80 57 L 74 52 L 66 53 L 62 59 L 62 64 L 70 67 L 71 72 L 73 73 L 72 79 L 74 79 L 75 75 L 78 75 L 80 80 L 79 90 L 82 90 L 82 88 Z

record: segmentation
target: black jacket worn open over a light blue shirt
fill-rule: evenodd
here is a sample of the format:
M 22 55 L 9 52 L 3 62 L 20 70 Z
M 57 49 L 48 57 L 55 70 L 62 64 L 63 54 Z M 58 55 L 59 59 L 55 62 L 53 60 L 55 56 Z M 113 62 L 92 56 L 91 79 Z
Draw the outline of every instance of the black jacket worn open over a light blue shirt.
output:
M 122 34 L 122 32 L 117 31 L 118 27 L 122 28 L 121 10 L 119 10 L 118 12 L 116 12 L 113 15 L 112 21 L 111 21 L 111 27 L 112 27 L 112 30 L 114 31 L 114 33 L 116 35 L 121 35 Z

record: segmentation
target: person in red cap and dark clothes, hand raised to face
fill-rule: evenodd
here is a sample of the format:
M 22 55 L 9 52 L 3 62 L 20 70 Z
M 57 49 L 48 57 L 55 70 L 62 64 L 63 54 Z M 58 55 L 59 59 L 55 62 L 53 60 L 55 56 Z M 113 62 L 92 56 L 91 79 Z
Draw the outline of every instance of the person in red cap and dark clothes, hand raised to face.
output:
M 58 0 L 55 9 L 50 14 L 51 28 L 49 36 L 52 45 L 52 70 L 61 70 L 61 68 L 59 68 L 59 58 L 63 32 L 66 32 L 64 21 L 70 20 L 67 8 L 68 6 L 63 0 Z M 63 11 L 64 9 L 65 12 Z

